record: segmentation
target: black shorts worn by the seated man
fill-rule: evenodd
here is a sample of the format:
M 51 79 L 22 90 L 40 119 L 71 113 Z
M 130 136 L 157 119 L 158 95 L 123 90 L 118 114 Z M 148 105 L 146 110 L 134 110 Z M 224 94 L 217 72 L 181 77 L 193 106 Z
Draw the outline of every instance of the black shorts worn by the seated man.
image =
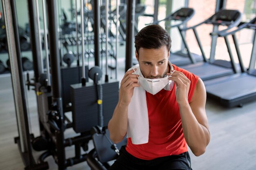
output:
M 120 155 L 108 170 L 192 170 L 189 152 L 153 160 L 136 158 L 122 146 Z

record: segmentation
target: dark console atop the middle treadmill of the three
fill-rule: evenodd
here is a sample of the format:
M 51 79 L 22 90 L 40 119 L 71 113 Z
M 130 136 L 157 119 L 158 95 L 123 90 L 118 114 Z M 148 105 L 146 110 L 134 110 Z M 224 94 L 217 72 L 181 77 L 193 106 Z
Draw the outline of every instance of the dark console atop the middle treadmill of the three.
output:
M 215 13 L 207 23 L 218 24 L 218 25 L 230 25 L 239 17 L 238 10 L 223 9 Z

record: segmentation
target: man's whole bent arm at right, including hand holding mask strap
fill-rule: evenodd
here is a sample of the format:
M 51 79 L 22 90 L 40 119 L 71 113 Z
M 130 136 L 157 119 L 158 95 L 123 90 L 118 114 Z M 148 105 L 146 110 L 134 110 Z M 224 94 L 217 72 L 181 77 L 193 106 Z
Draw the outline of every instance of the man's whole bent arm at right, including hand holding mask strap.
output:
M 169 78 L 175 82 L 176 101 L 179 104 L 184 138 L 195 156 L 202 155 L 210 141 L 205 112 L 206 91 L 199 78 L 191 102 L 188 102 L 190 80 L 179 71 Z

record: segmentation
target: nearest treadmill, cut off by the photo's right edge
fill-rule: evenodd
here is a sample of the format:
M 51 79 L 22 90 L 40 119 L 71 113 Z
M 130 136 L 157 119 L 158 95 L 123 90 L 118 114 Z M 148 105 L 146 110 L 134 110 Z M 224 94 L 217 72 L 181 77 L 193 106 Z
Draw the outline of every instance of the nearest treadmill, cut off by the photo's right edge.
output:
M 245 71 L 245 68 L 243 66 L 235 35 L 235 33 L 240 31 L 241 29 L 254 30 L 251 60 L 247 71 Z M 250 22 L 241 24 L 238 29 L 234 31 L 219 34 L 219 36 L 225 38 L 229 55 L 232 55 L 230 51 L 229 41 L 227 39 L 228 35 L 232 35 L 241 68 L 241 73 L 207 80 L 204 81 L 204 84 L 207 91 L 207 97 L 215 99 L 217 102 L 226 107 L 242 107 L 243 104 L 245 104 L 246 102 L 256 100 L 256 18 L 254 18 Z

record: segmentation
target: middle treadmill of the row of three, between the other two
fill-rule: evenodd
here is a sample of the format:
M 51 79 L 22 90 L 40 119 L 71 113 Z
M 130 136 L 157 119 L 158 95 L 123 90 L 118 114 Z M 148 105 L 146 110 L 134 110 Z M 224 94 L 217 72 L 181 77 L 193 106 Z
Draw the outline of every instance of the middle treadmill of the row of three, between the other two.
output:
M 240 68 L 236 66 L 231 56 L 230 56 L 230 61 L 214 60 L 214 56 L 215 56 L 218 33 L 228 31 L 234 26 L 237 26 L 240 23 L 241 18 L 242 18 L 242 13 L 240 13 L 238 10 L 222 9 L 217 13 L 213 14 L 207 20 L 195 26 L 182 29 L 182 30 L 193 29 L 195 38 L 198 42 L 198 46 L 200 47 L 200 51 L 202 53 L 203 62 L 198 62 L 195 64 L 189 64 L 189 65 L 180 66 L 180 67 L 184 68 L 185 70 L 195 75 L 198 75 L 203 81 L 207 79 L 213 79 L 216 77 L 238 73 L 240 71 L 239 70 Z M 209 60 L 204 55 L 204 51 L 202 49 L 202 45 L 198 38 L 198 33 L 196 31 L 196 27 L 202 24 L 211 24 L 214 26 L 213 32 L 210 34 L 212 36 L 212 41 L 211 41 L 211 53 L 210 53 Z M 220 25 L 227 26 L 227 29 L 218 31 L 218 26 Z

